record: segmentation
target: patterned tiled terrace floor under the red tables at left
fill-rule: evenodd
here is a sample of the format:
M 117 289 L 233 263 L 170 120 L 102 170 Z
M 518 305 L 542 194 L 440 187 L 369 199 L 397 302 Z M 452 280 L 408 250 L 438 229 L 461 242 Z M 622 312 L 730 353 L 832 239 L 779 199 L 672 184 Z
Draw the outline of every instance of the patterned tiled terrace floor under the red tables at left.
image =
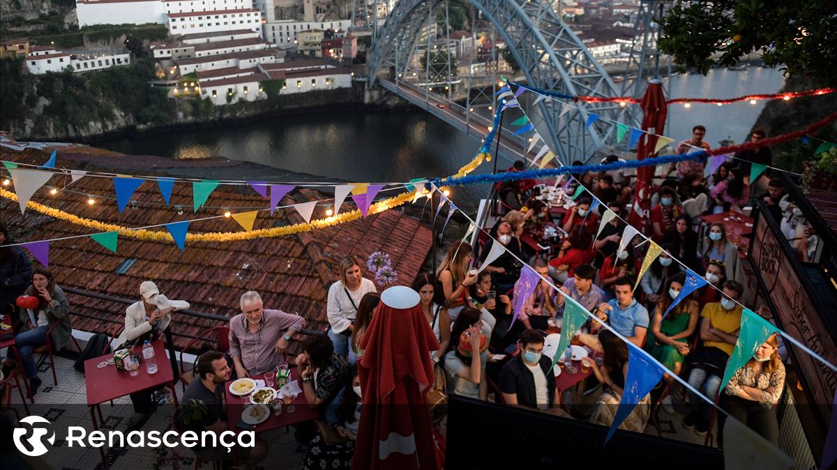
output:
M 5 351 L 3 351 L 5 356 Z M 55 432 L 54 448 L 44 457 L 40 457 L 51 468 L 62 470 L 90 470 L 102 468 L 100 452 L 91 447 L 69 447 L 66 443 L 68 427 L 84 427 L 87 432 L 93 430 L 93 423 L 90 420 L 90 410 L 87 407 L 85 393 L 85 376 L 73 369 L 73 360 L 63 357 L 55 358 L 55 371 L 58 376 L 58 385 L 54 385 L 52 372 L 49 369 L 49 362 L 39 367 L 39 377 L 44 381 L 38 394 L 35 395 L 35 403 L 29 404 L 29 414 L 43 416 L 50 423 Z M 25 391 L 24 391 L 25 393 Z M 178 396 L 182 393 L 180 386 L 177 387 Z M 13 407 L 18 410 L 21 416 L 25 411 L 20 403 L 20 396 L 13 391 Z M 114 405 L 105 403 L 101 406 L 102 416 L 105 418 L 101 430 L 108 429 L 129 431 L 126 421 L 134 414 L 133 406 L 129 397 L 122 397 L 114 401 Z M 172 410 L 170 406 L 160 406 L 157 412 L 141 425 L 142 431 L 159 430 L 165 431 L 171 425 Z M 304 450 L 297 447 L 293 437 L 293 431 L 276 429 L 270 432 L 259 433 L 259 438 L 269 444 L 268 457 L 262 465 L 255 468 L 279 468 L 296 469 L 300 467 Z M 131 469 L 139 470 L 144 468 L 193 468 L 194 454 L 185 447 L 173 449 L 163 448 L 162 452 L 156 453 L 154 449 L 137 448 L 131 446 L 108 447 L 105 446 L 105 456 L 110 468 L 115 470 Z M 177 461 L 172 462 L 172 458 Z M 0 464 L 3 467 L 3 464 Z M 212 465 L 204 463 L 204 469 L 211 469 Z

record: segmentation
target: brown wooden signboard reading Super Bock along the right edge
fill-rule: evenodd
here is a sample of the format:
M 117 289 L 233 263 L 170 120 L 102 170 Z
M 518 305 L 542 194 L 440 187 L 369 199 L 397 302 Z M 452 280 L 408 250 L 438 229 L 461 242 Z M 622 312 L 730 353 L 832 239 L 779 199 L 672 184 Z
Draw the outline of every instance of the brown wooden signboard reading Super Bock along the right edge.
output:
M 776 307 L 774 314 L 778 315 L 778 324 L 785 333 L 808 346 L 810 350 L 831 364 L 837 364 L 837 346 L 831 340 L 820 317 L 826 312 L 816 309 L 810 297 L 815 293 L 809 293 L 805 289 L 793 268 L 793 260 L 785 254 L 780 243 L 785 242 L 777 237 L 767 217 L 758 217 L 755 237 L 750 247 L 750 258 Z M 824 308 L 834 312 L 834 305 Z M 807 381 L 814 401 L 819 406 L 824 405 L 820 409 L 828 410 L 834 398 L 834 388 L 837 386 L 837 373 L 787 340 L 784 343 L 788 348 L 793 348 L 798 372 Z

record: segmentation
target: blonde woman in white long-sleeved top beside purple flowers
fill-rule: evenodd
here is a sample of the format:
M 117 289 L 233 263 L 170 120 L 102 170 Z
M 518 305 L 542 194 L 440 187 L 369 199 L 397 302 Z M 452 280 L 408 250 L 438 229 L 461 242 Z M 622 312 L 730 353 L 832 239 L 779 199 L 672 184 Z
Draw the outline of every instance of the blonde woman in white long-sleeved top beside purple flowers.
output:
M 334 352 L 342 358 L 348 358 L 349 364 L 357 364 L 357 355 L 349 347 L 354 325 L 352 320 L 357 314 L 363 294 L 377 292 L 375 284 L 364 278 L 361 267 L 354 258 L 347 256 L 340 261 L 340 280 L 328 289 L 328 337 L 334 344 Z

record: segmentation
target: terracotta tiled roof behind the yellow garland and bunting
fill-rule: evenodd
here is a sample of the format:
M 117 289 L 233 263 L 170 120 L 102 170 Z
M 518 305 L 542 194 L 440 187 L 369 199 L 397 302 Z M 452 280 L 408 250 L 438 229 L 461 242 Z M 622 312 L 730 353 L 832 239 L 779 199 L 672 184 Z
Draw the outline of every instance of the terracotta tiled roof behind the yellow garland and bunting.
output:
M 51 149 L 43 153 L 3 149 L 2 155 L 3 160 L 41 164 L 49 157 L 49 151 Z M 78 167 L 77 162 L 64 159 L 61 156 L 62 151 L 64 149 L 59 150 L 56 166 Z M 149 174 L 149 170 L 142 168 L 141 157 L 132 160 L 128 165 L 134 165 L 134 168 L 120 166 L 97 169 L 117 173 Z M 92 166 L 86 168 L 91 170 Z M 52 182 L 58 185 L 58 179 L 54 177 Z M 114 196 L 113 182 L 109 178 L 85 177 L 70 188 L 92 195 Z M 283 204 L 326 197 L 331 197 L 331 194 L 304 189 L 292 192 L 290 197 L 285 197 Z M 144 182 L 133 199 L 138 202 L 163 202 L 157 185 L 151 181 Z M 37 192 L 33 200 L 80 217 L 129 227 L 188 220 L 220 212 L 220 209 L 203 208 L 198 209 L 197 214 L 194 213 L 191 185 L 183 183 L 174 185 L 171 207 L 143 207 L 140 204 L 140 207 L 134 210 L 129 205 L 122 213 L 113 200 L 100 199 L 99 203 L 90 207 L 83 195 L 61 192 L 59 197 L 51 197 L 46 188 Z M 175 210 L 178 204 L 183 207 L 182 216 L 178 216 Z M 267 207 L 268 203 L 249 186 L 218 186 L 206 205 L 261 208 Z M 346 206 L 344 210 L 345 208 Z M 31 209 L 22 215 L 18 203 L 6 199 L 0 199 L 0 219 L 8 225 L 13 239 L 18 242 L 95 232 L 86 227 L 44 216 Z M 294 209 L 278 209 L 274 217 L 259 213 L 254 228 L 300 221 L 301 218 Z M 193 222 L 189 226 L 189 232 L 239 230 L 242 230 L 241 227 L 231 218 Z M 430 244 L 428 227 L 420 225 L 418 220 L 399 210 L 391 210 L 367 219 L 282 238 L 259 238 L 226 243 L 187 242 L 183 253 L 171 241 L 146 242 L 121 237 L 119 248 L 116 254 L 113 254 L 90 238 L 74 238 L 51 243 L 49 266 L 61 286 L 138 299 L 140 283 L 153 280 L 163 294 L 171 299 L 187 300 L 192 304 L 193 310 L 226 316 L 239 313 L 240 295 L 253 289 L 262 295 L 266 308 L 299 313 L 308 320 L 306 328 L 326 330 L 328 285 L 337 279 L 336 265 L 341 257 L 352 253 L 357 257 L 367 258 L 372 252 L 383 250 L 393 260 L 393 266 L 398 271 L 399 284 L 410 284 L 419 273 Z M 124 274 L 116 274 L 116 268 L 129 259 L 135 260 L 131 267 L 127 268 Z M 366 275 L 371 278 L 371 273 Z M 112 326 L 105 323 L 105 319 L 120 323 L 124 320 L 124 304 L 74 294 L 68 294 L 68 299 L 72 312 L 95 318 L 75 315 L 72 322 L 77 330 L 105 331 Z M 217 320 L 176 314 L 172 321 L 172 331 L 183 335 L 198 335 L 202 330 L 221 323 Z M 176 336 L 178 347 L 184 347 L 187 341 L 187 338 Z M 298 347 L 298 343 L 295 342 L 291 346 L 291 352 L 297 352 Z

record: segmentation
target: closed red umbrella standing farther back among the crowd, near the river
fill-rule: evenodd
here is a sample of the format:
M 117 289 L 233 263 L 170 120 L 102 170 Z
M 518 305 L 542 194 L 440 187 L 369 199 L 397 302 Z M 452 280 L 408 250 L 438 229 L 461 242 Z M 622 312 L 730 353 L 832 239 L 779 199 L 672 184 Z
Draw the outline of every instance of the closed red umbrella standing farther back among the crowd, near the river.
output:
M 663 135 L 665 128 L 665 115 L 668 114 L 668 105 L 665 104 L 663 85 L 658 79 L 650 80 L 645 89 L 645 95 L 639 102 L 642 108 L 642 130 L 650 134 Z M 643 133 L 639 137 L 636 156 L 638 160 L 644 160 L 656 156 L 654 147 L 657 145 L 657 136 Z M 634 210 L 631 212 L 629 221 L 637 227 L 640 232 L 650 233 L 650 206 L 651 190 L 654 180 L 655 166 L 643 166 L 636 169 L 636 186 L 634 186 Z

